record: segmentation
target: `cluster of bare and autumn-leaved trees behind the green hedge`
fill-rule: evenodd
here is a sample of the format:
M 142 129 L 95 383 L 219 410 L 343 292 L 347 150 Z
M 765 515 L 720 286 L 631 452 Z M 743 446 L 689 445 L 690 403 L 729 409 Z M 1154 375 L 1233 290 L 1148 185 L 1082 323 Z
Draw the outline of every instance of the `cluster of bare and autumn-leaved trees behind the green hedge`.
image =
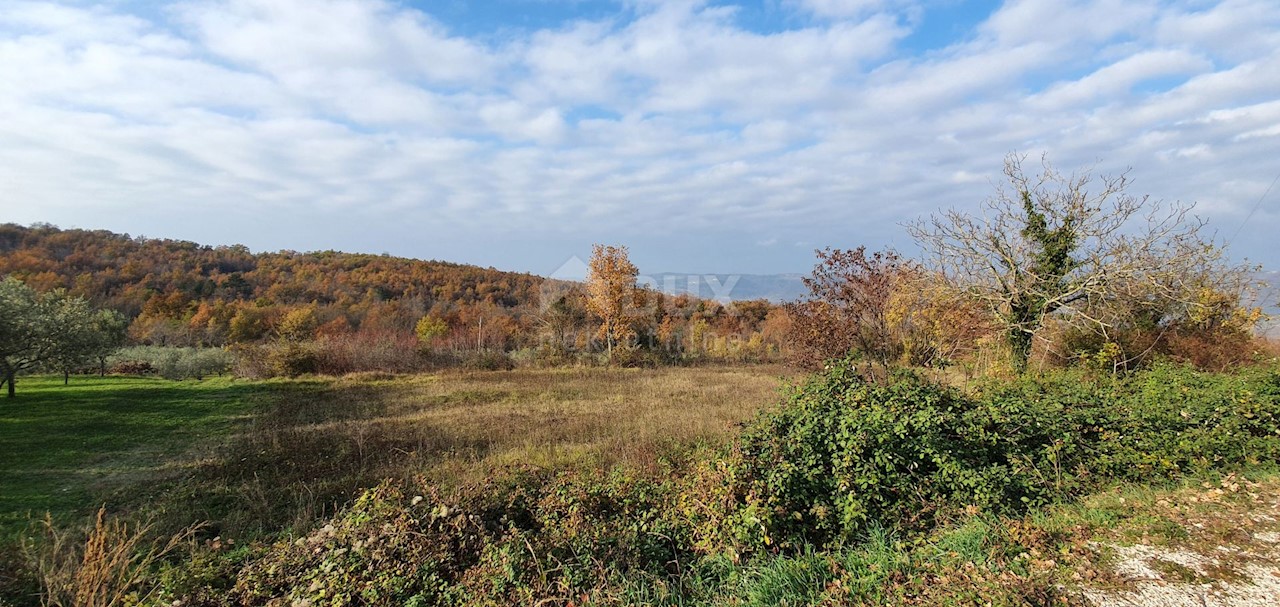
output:
M 1231 263 L 1190 205 L 1128 193 L 1129 179 L 1066 175 L 1024 156 L 978 214 L 908 225 L 925 257 L 819 251 L 808 301 L 787 306 L 804 366 L 856 352 L 882 368 L 946 364 L 1004 346 L 1112 370 L 1165 355 L 1224 368 L 1248 359 L 1258 268 Z

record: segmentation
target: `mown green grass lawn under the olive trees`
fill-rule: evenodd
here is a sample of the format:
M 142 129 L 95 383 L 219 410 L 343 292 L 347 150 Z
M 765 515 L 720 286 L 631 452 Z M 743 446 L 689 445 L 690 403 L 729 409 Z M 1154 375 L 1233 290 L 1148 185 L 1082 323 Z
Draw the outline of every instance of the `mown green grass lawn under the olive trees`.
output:
M 146 483 L 244 420 L 260 385 L 230 379 L 18 379 L 0 398 L 0 534 L 29 517 L 82 516 L 123 480 Z

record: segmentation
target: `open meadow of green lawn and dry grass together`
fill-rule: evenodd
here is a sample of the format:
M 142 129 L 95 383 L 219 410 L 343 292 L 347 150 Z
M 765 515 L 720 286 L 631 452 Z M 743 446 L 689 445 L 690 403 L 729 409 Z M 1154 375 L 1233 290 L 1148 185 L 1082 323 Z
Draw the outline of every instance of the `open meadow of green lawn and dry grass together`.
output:
M 305 528 L 392 479 L 653 466 L 777 400 L 782 368 L 530 369 L 173 382 L 22 378 L 0 407 L 0 530 L 115 512 L 225 535 Z

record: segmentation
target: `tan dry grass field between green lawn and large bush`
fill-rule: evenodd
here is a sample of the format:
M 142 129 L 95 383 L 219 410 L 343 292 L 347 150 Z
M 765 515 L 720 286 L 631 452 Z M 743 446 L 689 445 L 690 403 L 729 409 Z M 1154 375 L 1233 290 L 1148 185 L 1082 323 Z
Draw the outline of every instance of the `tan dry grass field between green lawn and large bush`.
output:
M 475 480 L 494 466 L 650 467 L 778 401 L 772 366 L 545 369 L 300 382 L 239 437 L 298 475 Z M 270 385 L 270 384 L 269 384 Z M 260 462 L 269 465 L 270 462 Z

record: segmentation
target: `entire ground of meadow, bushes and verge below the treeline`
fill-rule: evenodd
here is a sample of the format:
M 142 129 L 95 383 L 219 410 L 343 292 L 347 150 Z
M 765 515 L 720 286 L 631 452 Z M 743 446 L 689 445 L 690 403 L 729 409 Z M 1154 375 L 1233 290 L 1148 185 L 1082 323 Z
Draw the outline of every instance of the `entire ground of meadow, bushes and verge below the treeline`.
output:
M 22 389 L 0 415 L 0 604 L 1110 606 L 1280 574 L 1274 364 L 963 389 L 849 361 Z M 1135 553 L 1162 581 L 1116 572 Z

